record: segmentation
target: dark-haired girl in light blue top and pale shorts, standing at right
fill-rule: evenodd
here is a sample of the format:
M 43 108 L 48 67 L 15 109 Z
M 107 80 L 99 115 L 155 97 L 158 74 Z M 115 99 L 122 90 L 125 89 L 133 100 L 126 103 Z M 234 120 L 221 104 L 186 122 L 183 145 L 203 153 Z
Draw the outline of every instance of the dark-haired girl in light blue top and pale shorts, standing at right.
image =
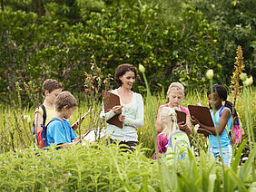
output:
M 212 110 L 212 94 L 215 110 Z M 212 152 L 214 158 L 222 158 L 224 165 L 230 167 L 232 158 L 231 149 L 231 139 L 229 138 L 228 130 L 231 130 L 231 119 L 232 119 L 232 103 L 227 101 L 228 91 L 226 88 L 220 84 L 213 85 L 213 93 L 211 94 L 211 89 L 207 92 L 208 102 L 211 108 L 212 121 L 214 127 L 203 125 L 199 120 L 192 117 L 192 124 L 199 124 L 202 129 L 209 130 L 211 135 L 209 135 L 209 151 Z M 224 105 L 222 105 L 224 102 Z M 236 110 L 234 110 L 234 117 L 237 116 Z M 228 130 L 225 129 L 227 126 Z M 217 132 L 220 136 L 221 148 L 219 146 Z M 222 155 L 221 155 L 222 151 Z

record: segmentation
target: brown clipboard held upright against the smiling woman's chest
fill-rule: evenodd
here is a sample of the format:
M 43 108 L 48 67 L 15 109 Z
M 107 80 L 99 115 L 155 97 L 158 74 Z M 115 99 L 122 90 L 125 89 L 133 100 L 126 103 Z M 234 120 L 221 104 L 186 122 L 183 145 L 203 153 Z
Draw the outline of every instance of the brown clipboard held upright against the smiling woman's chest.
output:
M 114 106 L 120 105 L 120 98 L 118 95 L 110 91 L 102 91 L 102 95 L 103 95 L 104 112 L 108 112 Z M 114 115 L 112 119 L 107 120 L 107 123 L 123 129 L 123 122 L 118 119 L 118 114 Z

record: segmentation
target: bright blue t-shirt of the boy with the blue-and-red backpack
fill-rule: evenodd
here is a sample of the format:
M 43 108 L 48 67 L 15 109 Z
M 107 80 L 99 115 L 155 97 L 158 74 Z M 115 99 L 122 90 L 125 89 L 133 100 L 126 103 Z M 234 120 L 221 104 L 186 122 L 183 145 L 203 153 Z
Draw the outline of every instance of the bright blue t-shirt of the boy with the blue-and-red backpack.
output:
M 71 143 L 74 138 L 76 138 L 76 134 L 67 120 L 54 120 L 47 127 L 48 146 Z

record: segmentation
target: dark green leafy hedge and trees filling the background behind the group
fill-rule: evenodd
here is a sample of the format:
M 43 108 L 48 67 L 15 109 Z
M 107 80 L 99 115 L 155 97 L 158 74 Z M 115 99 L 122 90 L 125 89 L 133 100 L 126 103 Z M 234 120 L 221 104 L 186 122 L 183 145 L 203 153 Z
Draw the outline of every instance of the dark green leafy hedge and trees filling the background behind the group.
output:
M 105 75 L 113 74 L 123 62 L 136 67 L 142 63 L 152 90 L 161 90 L 172 81 L 190 88 L 205 87 L 203 74 L 209 68 L 217 72 L 217 82 L 229 83 L 236 44 L 241 40 L 246 69 L 252 73 L 255 30 L 246 30 L 246 25 L 238 31 L 233 20 L 232 25 L 220 23 L 212 15 L 215 9 L 209 8 L 213 3 L 196 2 L 9 1 L 0 12 L 1 99 L 10 101 L 15 82 L 33 80 L 40 87 L 46 78 L 82 91 L 84 72 L 91 62 Z M 244 6 L 238 3 L 235 8 Z M 222 5 L 215 7 L 221 9 Z M 208 10 L 211 12 L 206 14 Z M 221 11 L 225 21 L 228 15 Z M 249 22 L 252 11 L 244 12 L 242 21 Z M 251 19 L 251 29 L 253 24 Z M 138 90 L 145 90 L 143 81 L 134 87 Z

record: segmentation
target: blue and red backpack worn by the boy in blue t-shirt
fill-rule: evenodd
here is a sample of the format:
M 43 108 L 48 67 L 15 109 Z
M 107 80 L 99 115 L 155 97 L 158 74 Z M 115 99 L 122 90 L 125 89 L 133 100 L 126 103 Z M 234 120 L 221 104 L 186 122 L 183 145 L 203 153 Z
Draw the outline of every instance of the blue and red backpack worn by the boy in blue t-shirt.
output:
M 45 148 L 45 147 L 48 147 L 48 141 L 47 141 L 47 127 L 49 126 L 49 124 L 51 122 L 53 122 L 54 120 L 59 120 L 61 121 L 62 125 L 63 125 L 63 128 L 64 128 L 64 124 L 62 122 L 62 120 L 60 119 L 57 119 L 57 118 L 53 118 L 52 120 L 50 120 L 48 122 L 48 124 L 46 126 L 42 126 L 43 127 L 43 130 L 39 130 L 36 134 L 36 139 L 37 139 L 37 143 L 38 143 L 38 147 L 40 149 L 42 148 Z

